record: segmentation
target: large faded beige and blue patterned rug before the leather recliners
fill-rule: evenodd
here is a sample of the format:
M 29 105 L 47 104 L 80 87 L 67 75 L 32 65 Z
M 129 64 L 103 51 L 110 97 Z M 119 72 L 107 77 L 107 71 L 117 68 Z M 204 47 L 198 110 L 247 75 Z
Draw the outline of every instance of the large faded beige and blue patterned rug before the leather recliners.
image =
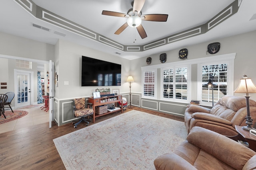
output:
M 53 141 L 67 170 L 154 170 L 186 136 L 184 122 L 132 110 Z

